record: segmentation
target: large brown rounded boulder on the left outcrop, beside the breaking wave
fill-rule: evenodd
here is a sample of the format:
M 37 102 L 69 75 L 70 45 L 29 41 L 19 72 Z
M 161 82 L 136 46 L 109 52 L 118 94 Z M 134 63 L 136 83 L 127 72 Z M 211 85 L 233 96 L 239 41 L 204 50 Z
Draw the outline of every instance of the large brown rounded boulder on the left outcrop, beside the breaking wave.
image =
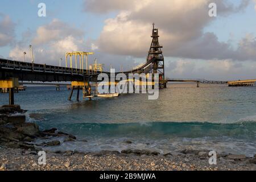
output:
M 17 132 L 22 133 L 28 137 L 35 138 L 39 135 L 39 127 L 35 123 L 23 123 L 18 127 Z

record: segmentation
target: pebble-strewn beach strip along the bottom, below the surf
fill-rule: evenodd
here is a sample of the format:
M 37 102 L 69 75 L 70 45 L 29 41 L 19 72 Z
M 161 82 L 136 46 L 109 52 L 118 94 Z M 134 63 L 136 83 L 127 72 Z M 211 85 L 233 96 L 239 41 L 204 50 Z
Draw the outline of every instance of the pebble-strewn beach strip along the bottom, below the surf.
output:
M 0 148 L 1 171 L 256 171 L 256 156 L 217 155 L 210 165 L 205 153 L 137 155 L 117 151 L 46 153 L 46 165 L 39 165 L 39 155 L 21 148 Z

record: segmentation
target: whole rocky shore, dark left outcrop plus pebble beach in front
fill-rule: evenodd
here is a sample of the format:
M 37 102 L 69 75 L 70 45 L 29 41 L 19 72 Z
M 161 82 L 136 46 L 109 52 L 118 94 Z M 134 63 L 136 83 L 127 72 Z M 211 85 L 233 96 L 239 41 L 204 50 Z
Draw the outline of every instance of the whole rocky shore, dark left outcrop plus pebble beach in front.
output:
M 57 129 L 40 131 L 27 123 L 26 110 L 19 105 L 0 107 L 0 170 L 256 170 L 256 155 L 217 154 L 217 164 L 209 164 L 208 150 L 184 149 L 159 154 L 147 150 L 79 152 L 46 151 L 46 164 L 39 165 L 38 152 L 45 146 L 59 146 L 57 137 L 73 142 L 76 137 Z M 56 139 L 54 139 L 56 138 Z M 47 142 L 36 143 L 36 139 Z M 131 142 L 131 141 L 129 141 Z M 256 152 L 256 151 L 255 151 Z

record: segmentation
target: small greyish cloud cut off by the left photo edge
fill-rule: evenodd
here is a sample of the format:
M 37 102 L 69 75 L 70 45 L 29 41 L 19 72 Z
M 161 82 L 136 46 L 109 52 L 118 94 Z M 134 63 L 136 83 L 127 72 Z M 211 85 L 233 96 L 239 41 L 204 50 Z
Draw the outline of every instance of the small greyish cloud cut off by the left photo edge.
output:
M 15 24 L 9 16 L 0 14 L 0 47 L 8 46 L 14 42 Z

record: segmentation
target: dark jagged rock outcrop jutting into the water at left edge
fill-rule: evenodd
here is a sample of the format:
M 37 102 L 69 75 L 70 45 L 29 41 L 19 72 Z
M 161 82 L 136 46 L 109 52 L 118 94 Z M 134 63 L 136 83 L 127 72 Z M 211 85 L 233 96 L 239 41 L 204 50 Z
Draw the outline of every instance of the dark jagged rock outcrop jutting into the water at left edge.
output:
M 76 139 L 74 135 L 57 131 L 52 128 L 40 131 L 36 123 L 27 123 L 26 116 L 22 115 L 26 110 L 20 109 L 19 105 L 4 105 L 0 107 L 0 144 L 9 148 L 23 148 L 25 150 L 38 151 L 38 146 L 59 146 L 59 140 L 32 144 L 36 138 L 66 137 L 65 142 Z M 18 113 L 18 114 L 17 114 Z

